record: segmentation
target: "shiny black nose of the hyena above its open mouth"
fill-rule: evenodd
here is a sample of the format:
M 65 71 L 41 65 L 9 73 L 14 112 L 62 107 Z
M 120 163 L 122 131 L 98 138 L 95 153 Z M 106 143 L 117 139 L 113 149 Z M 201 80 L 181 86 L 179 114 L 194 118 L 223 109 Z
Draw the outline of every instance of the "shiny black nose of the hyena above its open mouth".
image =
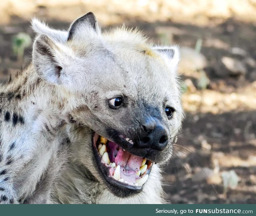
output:
M 137 139 L 135 144 L 139 148 L 152 148 L 156 150 L 164 150 L 168 143 L 167 131 L 164 129 L 163 125 L 158 120 L 152 119 L 147 123 L 148 124 L 142 125 L 144 130 L 147 132 L 147 135 L 140 137 L 140 139 Z

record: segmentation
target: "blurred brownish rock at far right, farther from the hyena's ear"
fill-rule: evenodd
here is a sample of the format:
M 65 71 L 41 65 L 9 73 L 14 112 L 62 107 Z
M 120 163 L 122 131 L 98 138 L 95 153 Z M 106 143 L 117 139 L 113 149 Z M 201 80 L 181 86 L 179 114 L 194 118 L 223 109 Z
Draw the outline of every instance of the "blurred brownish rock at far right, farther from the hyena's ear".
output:
M 221 61 L 229 70 L 230 75 L 245 75 L 247 72 L 244 63 L 238 59 L 224 56 Z

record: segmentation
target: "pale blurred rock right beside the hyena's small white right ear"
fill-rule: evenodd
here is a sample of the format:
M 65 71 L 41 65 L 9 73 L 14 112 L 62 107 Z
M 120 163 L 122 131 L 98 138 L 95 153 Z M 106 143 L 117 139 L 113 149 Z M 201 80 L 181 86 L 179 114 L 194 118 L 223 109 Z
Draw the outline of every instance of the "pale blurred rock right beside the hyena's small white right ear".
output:
M 206 57 L 190 47 L 180 47 L 179 71 L 198 71 L 206 67 Z

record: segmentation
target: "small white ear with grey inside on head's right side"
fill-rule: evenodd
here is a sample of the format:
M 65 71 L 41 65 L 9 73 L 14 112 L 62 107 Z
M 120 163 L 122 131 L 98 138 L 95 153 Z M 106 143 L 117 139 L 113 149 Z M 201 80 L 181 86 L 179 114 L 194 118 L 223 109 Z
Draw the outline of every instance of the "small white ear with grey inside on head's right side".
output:
M 154 50 L 162 53 L 168 58 L 168 62 L 172 67 L 177 67 L 180 61 L 180 52 L 178 47 L 154 47 Z

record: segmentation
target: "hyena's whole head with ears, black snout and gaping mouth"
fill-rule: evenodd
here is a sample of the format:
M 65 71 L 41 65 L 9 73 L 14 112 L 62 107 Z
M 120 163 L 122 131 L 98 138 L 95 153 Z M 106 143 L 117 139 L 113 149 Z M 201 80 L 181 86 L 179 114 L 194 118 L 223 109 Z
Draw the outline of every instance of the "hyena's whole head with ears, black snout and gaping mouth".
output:
M 69 31 L 33 27 L 38 75 L 59 86 L 64 114 L 84 128 L 77 157 L 116 196 L 141 192 L 153 164 L 170 159 L 183 118 L 177 47 L 125 28 L 100 33 L 92 13 Z

